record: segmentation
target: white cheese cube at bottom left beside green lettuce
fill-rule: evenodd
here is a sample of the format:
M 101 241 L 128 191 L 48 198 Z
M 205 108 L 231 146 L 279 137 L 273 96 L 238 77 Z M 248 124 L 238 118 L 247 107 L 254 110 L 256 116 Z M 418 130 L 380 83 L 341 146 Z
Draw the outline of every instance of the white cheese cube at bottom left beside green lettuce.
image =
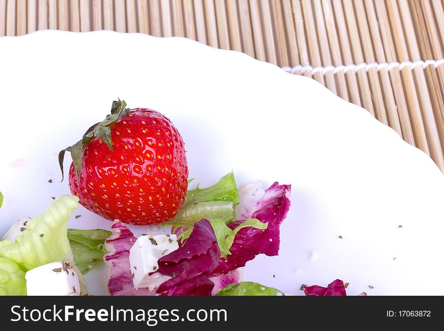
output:
M 52 262 L 25 275 L 28 295 L 80 295 L 79 279 L 69 263 Z

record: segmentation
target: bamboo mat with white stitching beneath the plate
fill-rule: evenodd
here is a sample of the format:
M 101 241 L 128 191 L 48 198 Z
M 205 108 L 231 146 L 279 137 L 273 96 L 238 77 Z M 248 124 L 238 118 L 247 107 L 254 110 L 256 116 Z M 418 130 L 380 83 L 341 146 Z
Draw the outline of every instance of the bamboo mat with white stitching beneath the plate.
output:
M 444 172 L 442 0 L 0 0 L 0 36 L 42 29 L 243 51 L 364 107 Z

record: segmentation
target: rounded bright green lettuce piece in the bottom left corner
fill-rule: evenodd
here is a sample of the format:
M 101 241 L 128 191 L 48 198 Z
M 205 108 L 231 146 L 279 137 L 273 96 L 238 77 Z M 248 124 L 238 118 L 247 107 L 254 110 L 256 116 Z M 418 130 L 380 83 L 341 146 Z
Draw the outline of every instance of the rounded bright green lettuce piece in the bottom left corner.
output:
M 3 295 L 26 295 L 26 280 L 17 263 L 0 257 L 0 296 Z

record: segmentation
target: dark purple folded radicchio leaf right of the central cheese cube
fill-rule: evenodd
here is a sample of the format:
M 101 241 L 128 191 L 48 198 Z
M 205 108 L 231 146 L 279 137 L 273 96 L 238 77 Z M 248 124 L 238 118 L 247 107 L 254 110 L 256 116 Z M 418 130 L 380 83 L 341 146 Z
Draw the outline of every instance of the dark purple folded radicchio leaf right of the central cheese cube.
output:
M 214 230 L 207 220 L 193 226 L 187 241 L 158 260 L 156 273 L 171 277 L 157 293 L 162 295 L 211 295 L 214 284 L 208 275 L 219 261 L 220 249 Z M 151 275 L 154 273 L 151 273 Z

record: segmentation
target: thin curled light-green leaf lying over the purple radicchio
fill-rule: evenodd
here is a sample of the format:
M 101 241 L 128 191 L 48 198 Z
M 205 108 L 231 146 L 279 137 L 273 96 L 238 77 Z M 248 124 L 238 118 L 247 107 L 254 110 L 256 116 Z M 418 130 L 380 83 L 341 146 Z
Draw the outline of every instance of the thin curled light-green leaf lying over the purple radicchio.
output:
M 256 229 L 265 230 L 268 226 L 268 223 L 262 223 L 261 221 L 255 218 L 250 218 L 248 220 L 245 220 L 245 222 L 241 223 L 234 229 L 230 229 L 227 226 L 227 224 L 225 224 L 224 220 L 221 219 L 217 218 L 210 219 L 209 222 L 213 227 L 214 234 L 216 235 L 217 244 L 219 245 L 220 248 L 220 257 L 227 257 L 227 255 L 231 254 L 230 248 L 233 245 L 236 233 L 238 233 L 240 229 L 246 227 L 252 227 Z M 193 228 L 190 228 L 179 235 L 178 239 L 181 240 L 181 244 L 183 244 L 185 240 L 188 239 L 192 231 Z

